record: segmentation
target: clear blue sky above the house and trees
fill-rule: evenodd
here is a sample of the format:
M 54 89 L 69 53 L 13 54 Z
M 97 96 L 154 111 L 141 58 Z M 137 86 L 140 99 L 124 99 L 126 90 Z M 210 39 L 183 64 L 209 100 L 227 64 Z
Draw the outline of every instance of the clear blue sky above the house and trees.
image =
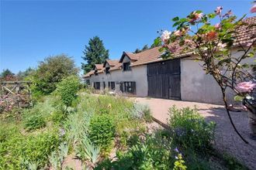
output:
M 17 73 L 46 56 L 66 53 L 81 66 L 82 50 L 99 36 L 111 59 L 123 51 L 152 44 L 157 30 L 171 29 L 171 19 L 222 5 L 234 14 L 249 13 L 251 1 L 7 1 L 0 2 L 0 71 Z

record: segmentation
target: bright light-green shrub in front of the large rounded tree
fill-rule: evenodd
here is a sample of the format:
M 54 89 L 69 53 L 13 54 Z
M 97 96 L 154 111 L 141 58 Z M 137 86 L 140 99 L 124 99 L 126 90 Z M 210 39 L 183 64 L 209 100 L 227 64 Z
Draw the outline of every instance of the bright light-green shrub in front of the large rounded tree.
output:
M 67 76 L 60 83 L 57 83 L 56 93 L 61 97 L 61 101 L 66 106 L 71 106 L 77 97 L 81 84 L 77 76 Z

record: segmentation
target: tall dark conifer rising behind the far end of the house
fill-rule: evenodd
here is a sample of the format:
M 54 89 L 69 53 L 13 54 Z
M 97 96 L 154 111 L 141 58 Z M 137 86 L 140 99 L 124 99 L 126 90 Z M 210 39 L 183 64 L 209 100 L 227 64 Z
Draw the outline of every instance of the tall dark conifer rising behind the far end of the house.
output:
M 89 40 L 88 46 L 85 46 L 83 53 L 84 56 L 81 58 L 84 59 L 86 63 L 81 63 L 81 69 L 84 70 L 84 73 L 88 73 L 92 70 L 95 64 L 104 63 L 106 59 L 109 59 L 109 49 L 105 49 L 99 36 L 95 36 Z

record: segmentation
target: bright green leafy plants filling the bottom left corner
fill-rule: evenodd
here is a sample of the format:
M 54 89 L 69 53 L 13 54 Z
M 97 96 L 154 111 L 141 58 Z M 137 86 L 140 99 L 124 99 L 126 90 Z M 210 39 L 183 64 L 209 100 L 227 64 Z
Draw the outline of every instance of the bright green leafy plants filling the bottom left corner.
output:
M 43 168 L 58 144 L 54 131 L 28 136 L 16 131 L 0 145 L 0 169 L 28 169 L 29 165 Z

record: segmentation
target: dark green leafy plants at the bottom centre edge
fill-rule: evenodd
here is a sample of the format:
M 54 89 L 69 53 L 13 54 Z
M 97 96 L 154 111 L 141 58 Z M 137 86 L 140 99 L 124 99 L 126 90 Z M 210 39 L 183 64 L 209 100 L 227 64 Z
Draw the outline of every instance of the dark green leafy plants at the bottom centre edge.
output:
M 161 138 L 147 136 L 146 141 L 138 141 L 127 152 L 118 152 L 117 161 L 108 159 L 95 169 L 171 169 L 170 143 L 164 143 Z

